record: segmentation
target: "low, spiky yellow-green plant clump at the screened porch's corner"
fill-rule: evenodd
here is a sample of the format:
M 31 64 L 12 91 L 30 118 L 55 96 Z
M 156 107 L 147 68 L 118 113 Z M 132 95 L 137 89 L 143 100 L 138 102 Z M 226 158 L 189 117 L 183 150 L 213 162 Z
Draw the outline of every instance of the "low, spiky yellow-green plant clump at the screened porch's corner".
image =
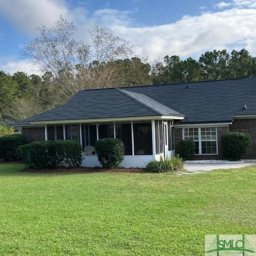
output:
M 172 172 L 183 170 L 184 160 L 179 155 L 153 160 L 146 165 L 145 172 Z

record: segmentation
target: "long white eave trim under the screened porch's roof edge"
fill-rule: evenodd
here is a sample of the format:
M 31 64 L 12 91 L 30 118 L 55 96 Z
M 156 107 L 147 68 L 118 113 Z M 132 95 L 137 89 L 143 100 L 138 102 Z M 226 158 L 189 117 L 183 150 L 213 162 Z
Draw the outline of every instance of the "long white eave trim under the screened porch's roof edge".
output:
M 119 122 L 119 121 L 143 121 L 152 119 L 176 119 L 183 120 L 184 116 L 131 116 L 118 118 L 94 118 L 94 119 L 77 119 L 77 120 L 53 120 L 53 121 L 31 121 L 30 124 L 77 124 L 77 123 L 95 123 L 95 122 Z

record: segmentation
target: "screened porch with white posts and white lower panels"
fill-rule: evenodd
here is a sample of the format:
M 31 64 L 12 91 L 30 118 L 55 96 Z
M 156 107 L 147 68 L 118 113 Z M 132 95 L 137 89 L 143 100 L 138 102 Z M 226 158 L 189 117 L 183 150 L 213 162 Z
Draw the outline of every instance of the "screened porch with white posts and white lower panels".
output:
M 174 154 L 173 117 L 150 120 L 117 120 L 104 122 L 69 122 L 45 124 L 45 140 L 76 140 L 82 148 L 82 166 L 99 166 L 95 142 L 118 138 L 124 143 L 122 167 L 144 167 L 147 162 Z M 167 119 L 168 118 L 168 119 Z M 171 118 L 171 119 L 169 119 Z M 178 117 L 181 119 L 182 117 Z M 126 118 L 127 119 L 127 118 Z

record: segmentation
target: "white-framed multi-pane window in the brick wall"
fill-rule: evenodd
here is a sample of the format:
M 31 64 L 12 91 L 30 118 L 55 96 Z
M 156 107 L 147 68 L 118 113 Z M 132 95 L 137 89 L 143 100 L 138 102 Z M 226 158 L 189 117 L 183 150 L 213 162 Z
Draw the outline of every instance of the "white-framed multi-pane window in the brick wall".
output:
M 216 127 L 184 128 L 184 139 L 196 142 L 196 154 L 217 154 Z

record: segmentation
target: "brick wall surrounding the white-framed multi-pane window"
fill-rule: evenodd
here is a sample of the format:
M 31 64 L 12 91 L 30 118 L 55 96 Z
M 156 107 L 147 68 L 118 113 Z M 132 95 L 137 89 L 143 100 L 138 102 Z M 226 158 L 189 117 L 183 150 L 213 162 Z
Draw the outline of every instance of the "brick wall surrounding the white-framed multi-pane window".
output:
M 229 131 L 228 126 L 217 127 L 218 155 L 196 155 L 196 156 L 192 156 L 191 160 L 223 159 L 222 148 L 221 148 L 221 138 L 222 138 L 222 135 L 228 131 Z M 178 148 L 178 143 L 180 140 L 182 140 L 182 128 L 174 128 L 175 149 Z

